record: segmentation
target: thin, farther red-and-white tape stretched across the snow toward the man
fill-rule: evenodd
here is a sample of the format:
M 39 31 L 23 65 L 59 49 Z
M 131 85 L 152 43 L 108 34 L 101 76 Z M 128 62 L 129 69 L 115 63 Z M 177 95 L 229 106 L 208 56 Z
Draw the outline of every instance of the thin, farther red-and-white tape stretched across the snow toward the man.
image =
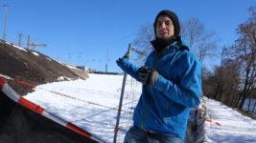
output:
M 13 80 L 14 82 L 17 82 L 17 83 L 20 83 L 20 84 L 29 86 L 29 87 L 31 87 L 31 88 L 35 88 L 35 87 L 36 87 L 34 84 L 31 84 L 31 83 L 28 83 L 28 82 L 25 82 L 25 81 L 22 81 L 22 80 L 15 79 L 15 78 L 12 78 L 12 77 L 10 77 L 10 76 L 3 75 L 3 74 L 1 74 L 1 73 L 0 73 L 0 76 L 4 77 L 5 79 Z M 61 93 L 61 92 L 55 92 L 55 91 L 45 90 L 45 89 L 42 89 L 42 88 L 38 88 L 38 89 L 43 90 L 43 91 L 46 91 L 46 92 L 53 92 L 53 93 L 55 93 L 55 94 L 58 94 L 58 95 L 61 95 L 61 96 L 64 96 L 64 97 L 67 97 L 67 98 L 70 98 L 70 99 L 78 100 L 78 101 L 81 101 L 81 102 L 86 102 L 86 103 L 88 103 L 88 104 L 92 104 L 92 105 L 96 105 L 96 106 L 101 106 L 101 107 L 104 107 L 104 108 L 107 108 L 107 109 L 119 111 L 118 108 L 108 107 L 108 106 L 105 106 L 105 105 L 102 105 L 102 104 L 99 104 L 99 103 L 96 103 L 96 102 L 87 101 L 87 100 L 80 99 L 80 98 L 74 97 L 74 96 L 72 96 L 72 95 L 64 94 L 64 93 Z M 128 111 L 121 110 L 121 112 L 128 112 Z M 128 112 L 128 113 L 133 113 L 133 112 Z

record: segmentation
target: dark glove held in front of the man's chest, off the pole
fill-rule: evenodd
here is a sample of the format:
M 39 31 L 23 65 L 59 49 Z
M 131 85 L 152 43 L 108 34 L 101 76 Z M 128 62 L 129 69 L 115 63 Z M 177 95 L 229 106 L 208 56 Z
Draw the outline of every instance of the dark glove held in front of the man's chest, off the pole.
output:
M 140 81 L 143 85 L 153 86 L 159 76 L 159 73 L 148 67 L 141 67 L 138 70 Z

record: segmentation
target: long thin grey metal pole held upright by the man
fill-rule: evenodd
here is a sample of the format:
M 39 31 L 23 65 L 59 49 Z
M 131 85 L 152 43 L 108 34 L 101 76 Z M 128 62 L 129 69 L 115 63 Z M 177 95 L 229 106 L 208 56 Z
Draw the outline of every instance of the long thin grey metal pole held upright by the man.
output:
M 131 44 L 128 45 L 128 59 L 129 59 L 129 54 L 131 51 Z M 120 115 L 122 111 L 122 104 L 123 104 L 123 98 L 124 98 L 124 93 L 125 93 L 125 88 L 126 88 L 126 82 L 127 82 L 127 76 L 128 73 L 125 72 L 124 78 L 123 78 L 123 85 L 122 85 L 122 91 L 121 91 L 121 96 L 119 100 L 119 108 L 118 108 L 118 113 L 117 113 L 117 119 L 116 119 L 116 127 L 115 127 L 115 135 L 114 135 L 114 141 L 113 143 L 116 143 L 116 138 L 117 138 L 117 133 L 118 133 L 118 127 L 119 127 L 119 121 L 120 121 Z

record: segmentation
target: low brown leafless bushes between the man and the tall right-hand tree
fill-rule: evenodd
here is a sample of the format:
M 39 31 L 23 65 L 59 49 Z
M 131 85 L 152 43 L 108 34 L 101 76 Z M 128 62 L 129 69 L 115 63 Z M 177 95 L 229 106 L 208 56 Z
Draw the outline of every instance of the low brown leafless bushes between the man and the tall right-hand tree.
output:
M 228 52 L 224 52 L 223 57 Z M 221 66 L 215 67 L 215 71 L 208 73 L 203 79 L 203 92 L 210 94 L 212 98 L 233 106 L 239 100 L 240 69 L 239 64 L 232 59 L 222 59 Z

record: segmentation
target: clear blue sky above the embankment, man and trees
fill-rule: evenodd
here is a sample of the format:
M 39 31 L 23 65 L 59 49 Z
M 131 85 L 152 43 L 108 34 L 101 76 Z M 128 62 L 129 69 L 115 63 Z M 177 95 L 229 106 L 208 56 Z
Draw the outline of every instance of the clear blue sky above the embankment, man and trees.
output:
M 9 5 L 6 40 L 23 47 L 28 35 L 40 51 L 58 61 L 86 65 L 97 71 L 121 72 L 116 59 L 128 50 L 140 27 L 152 23 L 160 10 L 173 10 L 180 21 L 194 16 L 206 30 L 216 31 L 218 45 L 229 46 L 236 29 L 248 18 L 256 0 L 0 0 Z M 0 36 L 4 8 L 0 7 Z M 108 55 L 107 55 L 108 49 Z

